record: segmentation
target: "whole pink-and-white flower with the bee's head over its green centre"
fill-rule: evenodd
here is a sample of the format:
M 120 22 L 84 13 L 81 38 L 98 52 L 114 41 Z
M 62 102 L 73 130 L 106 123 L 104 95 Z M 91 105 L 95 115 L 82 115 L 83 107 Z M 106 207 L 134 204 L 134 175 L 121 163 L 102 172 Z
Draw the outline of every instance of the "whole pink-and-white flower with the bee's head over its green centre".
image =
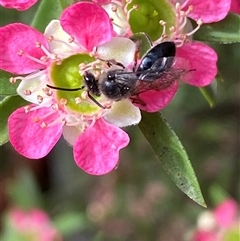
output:
M 94 3 L 71 5 L 63 11 L 60 23 L 52 21 L 44 35 L 19 23 L 0 29 L 0 50 L 5 53 L 1 69 L 28 74 L 12 81 L 22 80 L 17 91 L 33 103 L 9 117 L 10 142 L 21 155 L 39 159 L 63 134 L 73 145 L 80 168 L 93 175 L 106 174 L 116 167 L 119 150 L 129 143 L 119 127 L 139 123 L 140 111 L 129 100 L 113 103 L 96 97 L 100 105 L 109 107 L 103 109 L 88 98 L 85 89 L 55 91 L 46 86 L 84 86 L 82 68 L 101 69 L 89 54 L 113 36 L 107 13 Z M 86 64 L 86 59 L 93 62 Z

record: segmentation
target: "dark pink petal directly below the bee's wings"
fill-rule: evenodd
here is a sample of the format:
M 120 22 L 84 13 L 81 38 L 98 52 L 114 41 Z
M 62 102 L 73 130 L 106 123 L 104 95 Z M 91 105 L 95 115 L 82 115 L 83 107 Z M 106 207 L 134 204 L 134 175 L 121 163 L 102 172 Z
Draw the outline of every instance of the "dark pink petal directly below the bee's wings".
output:
M 140 103 L 133 103 L 140 109 L 147 112 L 156 112 L 166 107 L 173 99 L 178 90 L 178 83 L 174 82 L 171 86 L 164 90 L 150 90 L 139 95 L 139 99 L 146 105 Z

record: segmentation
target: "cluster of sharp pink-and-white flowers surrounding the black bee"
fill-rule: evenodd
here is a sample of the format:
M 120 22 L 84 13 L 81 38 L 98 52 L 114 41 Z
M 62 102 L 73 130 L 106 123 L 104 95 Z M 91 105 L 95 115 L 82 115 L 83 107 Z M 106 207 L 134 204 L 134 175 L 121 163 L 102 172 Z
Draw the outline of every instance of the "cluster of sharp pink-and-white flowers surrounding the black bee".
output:
M 7 7 L 3 2 L 0 4 Z M 33 2 L 22 4 L 27 8 Z M 175 43 L 176 57 L 187 60 L 187 68 L 194 70 L 184 80 L 194 86 L 210 84 L 217 73 L 214 50 L 191 40 L 202 23 L 219 21 L 228 13 L 229 0 L 218 0 L 221 3 L 216 5 L 212 2 L 169 1 L 175 24 L 168 29 L 166 21 L 160 21 L 163 32 L 153 41 L 153 45 Z M 207 10 L 205 4 L 209 5 Z M 131 98 L 114 101 L 91 92 L 86 84 L 86 72 L 97 79 L 119 63 L 119 68 L 132 71 L 138 44 L 129 38 L 133 34 L 130 18 L 132 12 L 140 10 L 141 3 L 132 5 L 131 1 L 82 1 L 66 8 L 59 20 L 52 20 L 44 34 L 21 23 L 0 28 L 0 51 L 4 53 L 0 68 L 18 75 L 11 82 L 21 80 L 17 92 L 31 103 L 9 117 L 9 138 L 17 152 L 39 159 L 63 134 L 73 146 L 77 165 L 85 172 L 102 175 L 117 166 L 119 150 L 129 143 L 120 127 L 138 124 L 140 109 L 161 110 L 178 89 L 174 81 L 165 89 L 140 93 L 141 104 Z M 188 17 L 197 27 L 187 31 Z

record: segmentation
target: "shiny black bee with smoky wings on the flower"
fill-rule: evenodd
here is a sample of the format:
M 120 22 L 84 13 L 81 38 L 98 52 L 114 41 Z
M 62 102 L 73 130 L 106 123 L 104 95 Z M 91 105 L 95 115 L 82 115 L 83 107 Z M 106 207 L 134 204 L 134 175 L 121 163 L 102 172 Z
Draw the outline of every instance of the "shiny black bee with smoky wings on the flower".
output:
M 180 79 L 185 73 L 192 70 L 174 68 L 176 46 L 174 42 L 163 42 L 150 49 L 142 58 L 140 64 L 133 71 L 126 71 L 120 63 L 111 64 L 110 70 L 100 75 L 99 79 L 90 72 L 85 72 L 84 82 L 89 98 L 99 107 L 105 108 L 97 102 L 92 95 L 103 94 L 107 98 L 119 101 L 131 98 L 141 104 L 138 95 L 148 90 L 162 90 L 169 87 L 175 80 Z M 48 86 L 52 87 L 52 86 Z M 71 90 L 54 87 L 59 90 Z

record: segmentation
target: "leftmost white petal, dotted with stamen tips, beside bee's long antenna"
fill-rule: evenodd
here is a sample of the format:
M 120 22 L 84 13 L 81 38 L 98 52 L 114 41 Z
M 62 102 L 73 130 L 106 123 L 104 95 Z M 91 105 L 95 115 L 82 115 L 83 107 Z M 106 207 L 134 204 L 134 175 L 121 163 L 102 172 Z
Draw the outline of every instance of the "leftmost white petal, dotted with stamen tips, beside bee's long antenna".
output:
M 36 73 L 35 73 L 36 74 Z M 32 74 L 32 75 L 35 75 Z M 34 104 L 45 104 L 50 102 L 52 97 L 46 95 L 43 88 L 46 87 L 46 74 L 38 72 L 38 75 L 31 78 L 31 75 L 26 76 L 25 79 L 21 81 L 17 88 L 17 93 L 25 100 Z M 26 94 L 26 91 L 30 94 Z M 42 98 L 42 102 L 39 102 Z

